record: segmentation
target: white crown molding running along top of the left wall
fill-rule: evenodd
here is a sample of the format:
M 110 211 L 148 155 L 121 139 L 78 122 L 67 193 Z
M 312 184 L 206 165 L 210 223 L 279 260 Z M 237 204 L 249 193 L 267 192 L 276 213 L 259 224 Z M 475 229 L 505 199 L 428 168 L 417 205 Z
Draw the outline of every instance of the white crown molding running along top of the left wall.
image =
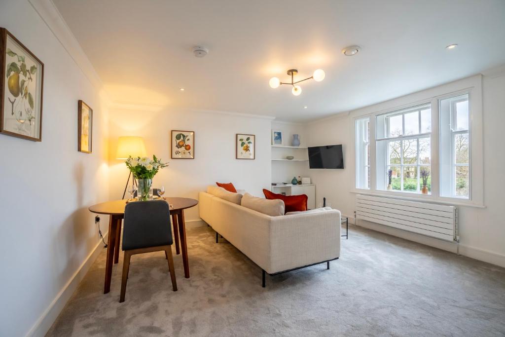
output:
M 81 69 L 84 76 L 97 89 L 102 89 L 102 80 L 96 73 L 86 53 L 51 0 L 28 0 L 42 21 L 60 41 L 64 49 Z

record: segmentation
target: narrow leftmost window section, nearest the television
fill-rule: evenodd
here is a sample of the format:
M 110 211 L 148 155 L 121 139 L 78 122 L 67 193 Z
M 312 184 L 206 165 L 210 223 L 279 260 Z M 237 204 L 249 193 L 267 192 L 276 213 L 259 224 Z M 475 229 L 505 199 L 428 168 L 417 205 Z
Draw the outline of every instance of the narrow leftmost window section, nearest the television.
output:
M 356 120 L 356 188 L 370 188 L 370 118 Z

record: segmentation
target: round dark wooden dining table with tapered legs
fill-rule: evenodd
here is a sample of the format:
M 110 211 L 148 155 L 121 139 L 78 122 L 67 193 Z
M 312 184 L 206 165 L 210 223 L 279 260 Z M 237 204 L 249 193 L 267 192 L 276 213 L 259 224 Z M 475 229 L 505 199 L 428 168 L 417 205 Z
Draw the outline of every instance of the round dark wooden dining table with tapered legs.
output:
M 186 225 L 184 222 L 184 210 L 198 204 L 197 200 L 189 198 L 164 198 L 170 205 L 172 215 L 172 228 L 174 228 L 174 242 L 176 254 L 182 253 L 184 265 L 184 277 L 189 278 L 188 250 L 186 242 Z M 130 202 L 135 202 L 130 201 Z M 119 242 L 121 239 L 121 224 L 124 218 L 127 200 L 115 200 L 90 206 L 88 210 L 96 214 L 110 215 L 109 237 L 107 239 L 107 261 L 105 266 L 104 294 L 111 291 L 112 265 L 119 261 Z M 147 215 L 148 216 L 148 215 Z M 180 252 L 179 252 L 180 240 Z

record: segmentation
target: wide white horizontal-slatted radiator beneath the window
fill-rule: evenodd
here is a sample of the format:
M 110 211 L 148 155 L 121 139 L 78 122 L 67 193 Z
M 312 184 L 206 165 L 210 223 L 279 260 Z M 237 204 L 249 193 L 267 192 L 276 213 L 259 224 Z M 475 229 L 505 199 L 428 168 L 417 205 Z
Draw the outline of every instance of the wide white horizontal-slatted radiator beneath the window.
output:
M 443 240 L 459 241 L 454 206 L 358 195 L 356 218 Z

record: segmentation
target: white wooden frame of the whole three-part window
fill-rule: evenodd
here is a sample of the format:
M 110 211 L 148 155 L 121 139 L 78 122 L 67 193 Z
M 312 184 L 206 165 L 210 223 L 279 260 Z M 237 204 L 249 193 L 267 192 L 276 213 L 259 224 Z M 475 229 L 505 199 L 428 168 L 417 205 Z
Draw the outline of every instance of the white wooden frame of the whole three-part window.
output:
M 439 104 L 445 98 L 456 97 L 468 93 L 469 95 L 469 199 L 441 197 L 439 187 Z M 407 109 L 431 102 L 431 195 L 415 194 L 405 191 L 385 191 L 377 189 L 376 176 L 376 142 L 370 142 L 370 189 L 356 188 L 355 179 L 351 181 L 350 191 L 357 194 L 391 196 L 405 200 L 428 201 L 449 205 L 463 205 L 483 208 L 483 124 L 482 124 L 482 75 L 474 75 L 455 82 L 439 85 L 397 99 L 378 103 L 372 106 L 349 112 L 349 126 L 355 128 L 357 119 L 369 117 L 370 138 L 375 140 L 376 123 L 372 123 L 376 116 Z M 419 136 L 419 135 L 416 135 Z M 352 141 L 355 141 L 356 135 Z M 356 153 L 353 154 L 356 156 Z M 356 157 L 352 158 L 353 160 Z M 354 161 L 356 162 L 356 161 Z M 423 166 L 423 165 L 422 165 Z

